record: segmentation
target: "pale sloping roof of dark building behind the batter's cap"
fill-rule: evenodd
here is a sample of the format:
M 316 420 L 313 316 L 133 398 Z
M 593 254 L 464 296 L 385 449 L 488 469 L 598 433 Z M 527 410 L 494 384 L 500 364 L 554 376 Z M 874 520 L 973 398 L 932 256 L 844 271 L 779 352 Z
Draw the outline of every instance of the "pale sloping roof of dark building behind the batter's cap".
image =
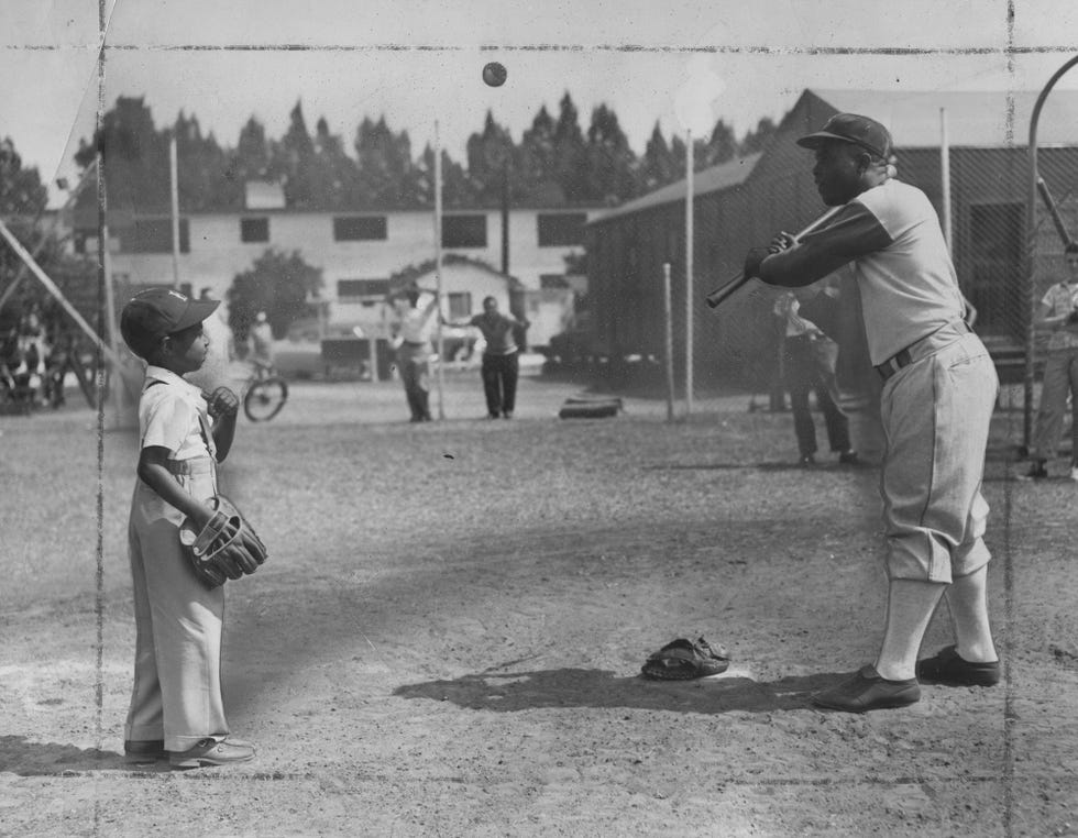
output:
M 938 148 L 941 109 L 950 146 L 1026 146 L 1040 90 L 816 90 L 847 113 L 864 113 L 891 130 L 894 147 Z M 1078 145 L 1078 90 L 1053 90 L 1037 121 L 1037 146 Z

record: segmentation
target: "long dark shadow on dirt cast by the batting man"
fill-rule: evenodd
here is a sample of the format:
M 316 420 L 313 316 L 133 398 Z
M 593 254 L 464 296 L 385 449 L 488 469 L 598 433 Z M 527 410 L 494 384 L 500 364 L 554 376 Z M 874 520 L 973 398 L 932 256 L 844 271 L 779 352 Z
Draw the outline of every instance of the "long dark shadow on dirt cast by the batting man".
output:
M 406 684 L 402 698 L 452 702 L 473 710 L 517 713 L 546 707 L 636 708 L 681 713 L 776 713 L 811 707 L 810 696 L 848 674 L 821 673 L 760 683 L 727 673 L 696 681 L 618 677 L 603 670 L 479 673 Z

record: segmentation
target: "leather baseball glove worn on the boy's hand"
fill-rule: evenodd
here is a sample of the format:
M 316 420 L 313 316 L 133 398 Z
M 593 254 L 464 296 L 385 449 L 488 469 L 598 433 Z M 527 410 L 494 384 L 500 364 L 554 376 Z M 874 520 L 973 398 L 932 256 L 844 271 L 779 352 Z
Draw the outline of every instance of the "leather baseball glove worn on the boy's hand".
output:
M 224 495 L 210 500 L 216 510 L 201 532 L 196 532 L 190 519 L 179 528 L 179 541 L 195 569 L 195 575 L 207 588 L 223 585 L 254 573 L 265 562 L 266 545 L 243 517 L 235 504 Z

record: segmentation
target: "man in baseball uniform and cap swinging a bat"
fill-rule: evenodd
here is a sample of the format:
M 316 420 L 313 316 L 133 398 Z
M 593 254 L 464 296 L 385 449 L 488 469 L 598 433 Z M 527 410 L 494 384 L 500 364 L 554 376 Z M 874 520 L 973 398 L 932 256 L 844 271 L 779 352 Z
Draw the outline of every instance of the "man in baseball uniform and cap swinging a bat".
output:
M 919 683 L 991 686 L 1000 664 L 989 627 L 980 493 L 999 381 L 963 320 L 964 302 L 939 220 L 925 195 L 890 177 L 891 136 L 875 120 L 839 113 L 798 144 L 815 152 L 824 203 L 842 207 L 825 228 L 780 233 L 749 251 L 745 275 L 809 285 L 850 265 L 872 365 L 883 378 L 887 451 L 881 494 L 888 607 L 875 664 L 813 696 L 860 713 L 921 698 Z M 932 615 L 946 597 L 955 646 L 917 662 Z

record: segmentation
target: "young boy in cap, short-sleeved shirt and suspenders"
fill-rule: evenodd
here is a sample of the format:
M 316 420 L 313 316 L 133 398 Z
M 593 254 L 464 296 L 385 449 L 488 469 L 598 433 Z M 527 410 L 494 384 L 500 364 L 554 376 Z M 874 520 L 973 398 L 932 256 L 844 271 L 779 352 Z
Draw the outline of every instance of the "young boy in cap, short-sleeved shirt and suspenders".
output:
M 206 361 L 202 321 L 219 305 L 152 288 L 128 302 L 120 317 L 123 340 L 147 364 L 128 527 L 136 628 L 123 743 L 130 762 L 167 757 L 174 768 L 199 768 L 254 757 L 250 746 L 227 739 L 224 589 L 207 589 L 198 581 L 179 542 L 185 518 L 200 531 L 212 517 L 206 501 L 217 495 L 217 463 L 235 433 L 235 394 L 219 388 L 207 404 L 183 377 Z

